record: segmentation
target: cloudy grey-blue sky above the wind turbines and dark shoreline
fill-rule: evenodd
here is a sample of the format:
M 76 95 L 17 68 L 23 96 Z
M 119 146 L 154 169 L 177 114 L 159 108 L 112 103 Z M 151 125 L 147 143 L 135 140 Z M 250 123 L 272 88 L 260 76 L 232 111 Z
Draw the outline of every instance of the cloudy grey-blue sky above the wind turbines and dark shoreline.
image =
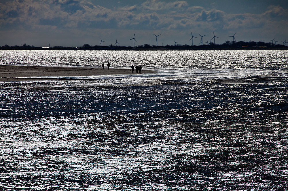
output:
M 287 29 L 288 0 L 0 0 L 0 46 L 283 44 Z

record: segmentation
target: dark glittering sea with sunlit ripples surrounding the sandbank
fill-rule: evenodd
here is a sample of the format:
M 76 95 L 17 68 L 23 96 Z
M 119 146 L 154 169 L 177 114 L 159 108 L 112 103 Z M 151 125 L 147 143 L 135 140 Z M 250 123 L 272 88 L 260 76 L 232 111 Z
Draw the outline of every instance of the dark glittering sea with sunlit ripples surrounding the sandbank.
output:
M 288 190 L 287 53 L 0 50 L 143 68 L 0 82 L 0 190 Z

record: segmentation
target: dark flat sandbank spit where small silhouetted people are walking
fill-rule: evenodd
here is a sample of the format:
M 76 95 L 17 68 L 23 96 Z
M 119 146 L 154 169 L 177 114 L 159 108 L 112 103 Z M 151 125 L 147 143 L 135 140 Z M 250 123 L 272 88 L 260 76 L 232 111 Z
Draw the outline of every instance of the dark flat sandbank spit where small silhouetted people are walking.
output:
M 152 73 L 151 70 L 143 70 L 142 74 Z M 33 81 L 33 80 L 75 80 L 73 78 L 56 78 L 59 76 L 99 76 L 99 75 L 126 75 L 132 74 L 129 69 L 115 69 L 107 67 L 52 67 L 52 66 L 18 66 L 18 65 L 0 65 L 0 81 Z M 136 74 L 134 71 L 134 75 Z M 49 76 L 49 78 L 39 78 L 36 76 Z M 51 77 L 52 76 L 52 77 Z M 25 78 L 22 78 L 25 77 Z M 89 80 L 89 79 L 77 79 Z

